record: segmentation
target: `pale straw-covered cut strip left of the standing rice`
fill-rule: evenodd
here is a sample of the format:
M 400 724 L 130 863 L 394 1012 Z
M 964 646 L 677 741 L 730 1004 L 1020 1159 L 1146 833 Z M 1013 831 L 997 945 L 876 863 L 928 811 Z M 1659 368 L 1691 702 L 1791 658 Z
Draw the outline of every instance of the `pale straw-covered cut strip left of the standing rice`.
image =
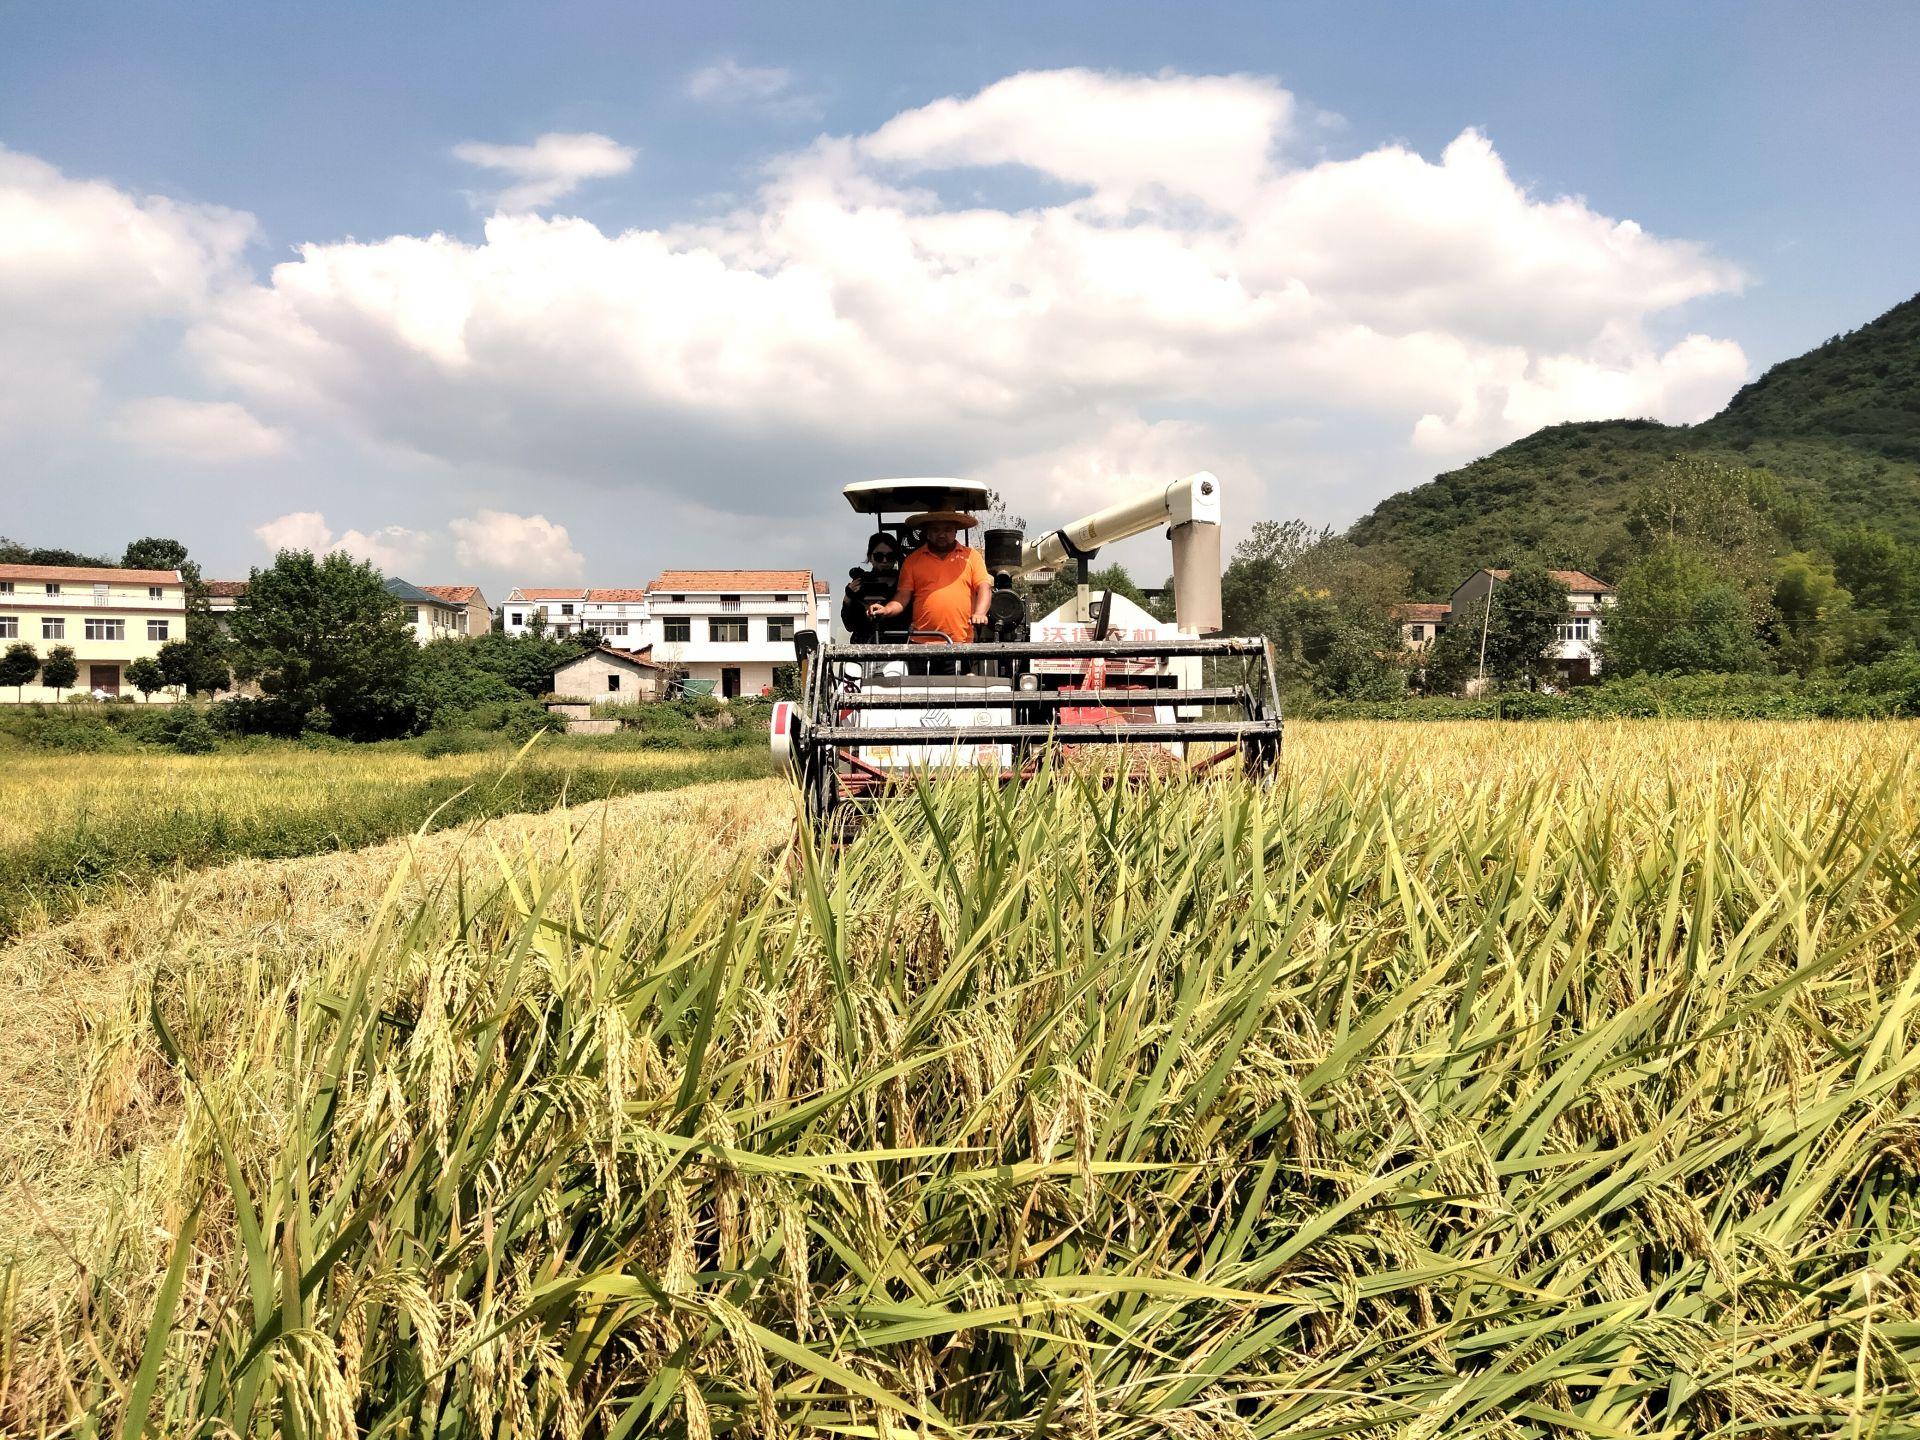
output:
M 84 1258 L 121 1187 L 179 1121 L 177 1094 L 152 1085 L 144 1000 L 134 993 L 190 956 L 202 975 L 236 987 L 263 958 L 301 966 L 355 943 L 396 872 L 419 899 L 465 866 L 497 877 L 488 841 L 509 854 L 597 851 L 611 883 L 647 891 L 662 879 L 718 876 L 791 831 L 774 780 L 689 785 L 545 814 L 407 837 L 298 860 L 240 860 L 169 877 L 0 948 L 0 1254 L 46 1281 L 61 1254 Z M 246 991 L 242 991 L 246 993 Z

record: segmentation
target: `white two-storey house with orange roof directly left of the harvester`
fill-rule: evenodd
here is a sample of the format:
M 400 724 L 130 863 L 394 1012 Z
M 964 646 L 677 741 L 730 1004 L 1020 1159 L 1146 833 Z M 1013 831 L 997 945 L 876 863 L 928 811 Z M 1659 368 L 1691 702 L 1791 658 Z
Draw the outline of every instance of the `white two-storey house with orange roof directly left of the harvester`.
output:
M 653 659 L 714 695 L 762 695 L 793 664 L 793 636 L 828 639 L 831 595 L 812 570 L 666 570 L 647 586 Z

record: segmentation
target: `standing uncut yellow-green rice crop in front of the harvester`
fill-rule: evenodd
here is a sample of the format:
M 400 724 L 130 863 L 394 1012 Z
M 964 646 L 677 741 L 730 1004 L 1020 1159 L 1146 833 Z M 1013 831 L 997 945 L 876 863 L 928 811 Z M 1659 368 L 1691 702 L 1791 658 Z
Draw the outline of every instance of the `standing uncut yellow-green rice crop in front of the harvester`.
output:
M 952 781 L 647 887 L 503 849 L 244 983 L 171 954 L 104 1041 L 184 1085 L 154 1210 L 15 1308 L 8 1404 L 1908 1434 L 1914 737 L 1319 728 L 1273 789 Z

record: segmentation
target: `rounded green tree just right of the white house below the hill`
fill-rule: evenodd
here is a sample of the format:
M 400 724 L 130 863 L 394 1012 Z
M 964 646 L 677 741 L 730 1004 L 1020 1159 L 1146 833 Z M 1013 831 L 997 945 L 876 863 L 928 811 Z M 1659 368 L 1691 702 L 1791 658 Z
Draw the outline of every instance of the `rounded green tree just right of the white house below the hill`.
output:
M 1686 543 L 1659 545 L 1620 576 L 1605 612 L 1601 659 L 1619 674 L 1764 670 L 1747 597 Z

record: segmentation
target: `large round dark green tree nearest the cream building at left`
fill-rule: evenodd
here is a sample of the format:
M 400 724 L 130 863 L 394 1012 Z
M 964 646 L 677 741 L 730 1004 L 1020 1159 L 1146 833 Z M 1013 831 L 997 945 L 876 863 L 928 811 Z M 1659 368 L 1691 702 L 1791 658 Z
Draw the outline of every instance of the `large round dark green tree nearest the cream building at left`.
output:
M 286 728 L 324 724 L 349 739 L 403 733 L 420 657 L 403 616 L 371 564 L 284 549 L 248 576 L 232 614 L 234 672 L 259 682 Z

